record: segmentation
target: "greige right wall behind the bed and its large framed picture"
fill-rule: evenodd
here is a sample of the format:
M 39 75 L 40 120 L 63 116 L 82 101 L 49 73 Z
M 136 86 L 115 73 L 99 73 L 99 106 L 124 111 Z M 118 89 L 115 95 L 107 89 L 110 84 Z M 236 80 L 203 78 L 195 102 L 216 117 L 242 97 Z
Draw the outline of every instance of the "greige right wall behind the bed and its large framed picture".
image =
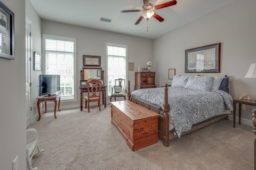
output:
M 157 85 L 172 83 L 168 79 L 168 69 L 176 69 L 176 75 L 197 75 L 198 73 L 184 73 L 185 50 L 220 42 L 220 73 L 201 75 L 228 75 L 230 95 L 233 99 L 238 98 L 243 92 L 256 99 L 256 79 L 244 78 L 250 64 L 256 63 L 255 8 L 255 0 L 236 0 L 156 38 L 152 63 L 156 69 Z M 251 108 L 243 105 L 242 123 L 252 125 Z

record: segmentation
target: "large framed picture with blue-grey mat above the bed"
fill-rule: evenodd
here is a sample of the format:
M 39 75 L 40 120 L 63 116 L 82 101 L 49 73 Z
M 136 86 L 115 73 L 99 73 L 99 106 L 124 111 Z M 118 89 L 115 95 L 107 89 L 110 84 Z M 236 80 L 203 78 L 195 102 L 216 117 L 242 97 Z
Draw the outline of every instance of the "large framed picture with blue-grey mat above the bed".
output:
M 185 50 L 185 73 L 220 73 L 220 43 Z

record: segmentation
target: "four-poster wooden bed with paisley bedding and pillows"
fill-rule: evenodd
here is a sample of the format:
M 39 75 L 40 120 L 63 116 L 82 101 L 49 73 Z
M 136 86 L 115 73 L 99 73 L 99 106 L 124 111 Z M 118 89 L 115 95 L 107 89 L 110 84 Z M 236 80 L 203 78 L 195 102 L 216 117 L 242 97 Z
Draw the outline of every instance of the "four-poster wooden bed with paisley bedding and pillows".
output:
M 158 113 L 158 138 L 169 140 L 228 117 L 233 110 L 229 77 L 174 76 L 172 86 L 139 89 L 128 100 Z

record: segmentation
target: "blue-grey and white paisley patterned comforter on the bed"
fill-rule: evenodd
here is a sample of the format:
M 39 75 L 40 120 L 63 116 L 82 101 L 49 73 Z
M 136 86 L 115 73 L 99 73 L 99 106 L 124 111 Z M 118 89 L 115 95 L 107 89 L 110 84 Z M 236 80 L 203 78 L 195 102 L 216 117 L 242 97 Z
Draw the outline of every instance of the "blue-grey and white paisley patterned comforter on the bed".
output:
M 164 88 L 139 89 L 131 93 L 148 103 L 163 108 Z M 168 87 L 169 117 L 180 138 L 182 132 L 191 129 L 192 125 L 205 121 L 226 110 L 233 110 L 232 97 L 221 90 L 197 91 L 182 87 Z

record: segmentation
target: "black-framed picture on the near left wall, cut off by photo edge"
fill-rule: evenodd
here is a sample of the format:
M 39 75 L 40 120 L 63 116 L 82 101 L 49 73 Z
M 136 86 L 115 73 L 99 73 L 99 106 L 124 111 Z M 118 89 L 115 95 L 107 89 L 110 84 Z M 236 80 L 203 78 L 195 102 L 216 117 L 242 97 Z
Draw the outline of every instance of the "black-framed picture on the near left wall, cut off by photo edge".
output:
M 0 57 L 14 58 L 14 13 L 0 1 Z

